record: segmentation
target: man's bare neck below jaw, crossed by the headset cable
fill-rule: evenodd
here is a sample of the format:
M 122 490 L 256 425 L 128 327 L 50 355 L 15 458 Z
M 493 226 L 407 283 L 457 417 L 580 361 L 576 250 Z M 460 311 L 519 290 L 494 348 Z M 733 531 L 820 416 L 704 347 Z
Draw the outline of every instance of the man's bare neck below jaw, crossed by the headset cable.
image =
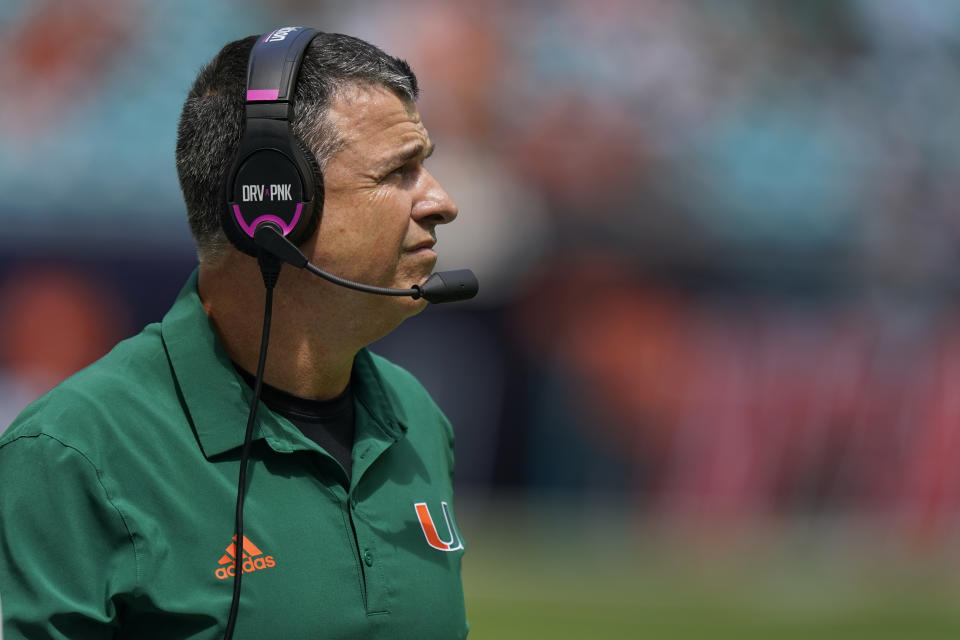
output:
M 207 315 L 229 357 L 252 375 L 263 330 L 262 283 L 256 260 L 239 253 L 200 266 Z M 274 290 L 264 382 L 303 398 L 340 395 L 357 352 L 393 328 L 358 320 L 370 317 L 358 308 L 370 303 L 363 296 L 285 266 Z

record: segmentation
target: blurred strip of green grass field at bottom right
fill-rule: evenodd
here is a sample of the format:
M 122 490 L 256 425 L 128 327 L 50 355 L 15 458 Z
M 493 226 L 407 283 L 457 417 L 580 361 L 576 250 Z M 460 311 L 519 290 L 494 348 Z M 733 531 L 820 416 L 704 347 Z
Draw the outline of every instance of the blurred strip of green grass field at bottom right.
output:
M 960 539 L 921 551 L 834 522 L 721 541 L 616 510 L 458 509 L 472 640 L 960 638 Z

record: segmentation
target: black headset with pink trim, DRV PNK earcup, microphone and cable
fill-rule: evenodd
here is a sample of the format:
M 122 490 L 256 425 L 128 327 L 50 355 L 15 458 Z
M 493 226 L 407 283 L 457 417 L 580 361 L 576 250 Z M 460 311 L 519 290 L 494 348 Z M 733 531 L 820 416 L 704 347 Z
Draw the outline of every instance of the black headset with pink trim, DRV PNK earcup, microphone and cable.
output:
M 317 229 L 323 209 L 323 178 L 316 158 L 290 129 L 297 75 L 310 42 L 320 32 L 282 27 L 258 36 L 247 63 L 246 123 L 237 155 L 224 180 L 221 227 L 240 251 L 255 256 L 266 289 L 260 356 L 253 397 L 240 454 L 234 540 L 243 545 L 243 504 L 257 407 L 270 341 L 273 289 L 284 263 L 307 269 L 329 282 L 357 291 L 387 296 L 455 302 L 477 294 L 479 284 L 469 269 L 431 274 L 422 285 L 391 289 L 353 282 L 311 264 L 300 251 Z M 234 559 L 233 599 L 224 638 L 230 640 L 240 606 L 243 567 Z

